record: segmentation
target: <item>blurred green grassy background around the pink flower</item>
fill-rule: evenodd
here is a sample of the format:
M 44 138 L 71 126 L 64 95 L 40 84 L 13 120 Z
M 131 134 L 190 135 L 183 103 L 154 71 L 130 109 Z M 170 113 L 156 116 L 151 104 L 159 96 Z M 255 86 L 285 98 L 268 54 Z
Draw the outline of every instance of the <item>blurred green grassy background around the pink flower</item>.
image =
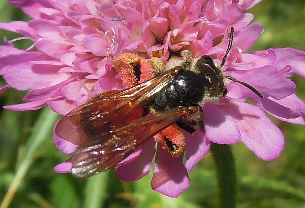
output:
M 305 1 L 263 0 L 249 12 L 255 15 L 254 21 L 262 22 L 265 28 L 251 50 L 292 47 L 305 51 Z M 1 22 L 28 20 L 5 0 L 0 0 L 0 14 Z M 0 30 L 0 38 L 3 37 L 11 40 L 18 35 Z M 2 40 L 0 42 L 3 44 Z M 23 48 L 29 44 L 18 43 L 17 47 Z M 300 78 L 292 79 L 297 84 L 298 96 L 305 100 L 305 82 Z M 2 78 L 0 82 L 3 83 Z M 15 194 L 8 197 L 12 199 L 10 207 L 217 206 L 217 182 L 209 154 L 190 173 L 190 188 L 177 199 L 151 190 L 151 175 L 128 183 L 118 180 L 114 170 L 87 180 L 57 174 L 53 171 L 54 165 L 69 157 L 58 151 L 53 143 L 52 127 L 59 117 L 47 108 L 31 112 L 2 109 L 5 105 L 21 103 L 24 94 L 8 89 L 0 95 L 0 201 L 12 184 L 13 187 L 19 185 Z M 286 137 L 285 150 L 278 159 L 266 162 L 256 158 L 241 143 L 232 146 L 239 208 L 304 207 L 305 128 L 274 121 Z

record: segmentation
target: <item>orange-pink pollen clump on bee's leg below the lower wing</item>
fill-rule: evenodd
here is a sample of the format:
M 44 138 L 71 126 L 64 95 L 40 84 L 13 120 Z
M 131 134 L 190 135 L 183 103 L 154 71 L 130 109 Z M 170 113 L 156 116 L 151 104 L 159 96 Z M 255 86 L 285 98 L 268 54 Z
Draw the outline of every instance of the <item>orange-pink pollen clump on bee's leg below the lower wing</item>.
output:
M 155 141 L 162 144 L 173 157 L 178 157 L 185 147 L 185 136 L 177 124 L 170 125 L 154 136 Z

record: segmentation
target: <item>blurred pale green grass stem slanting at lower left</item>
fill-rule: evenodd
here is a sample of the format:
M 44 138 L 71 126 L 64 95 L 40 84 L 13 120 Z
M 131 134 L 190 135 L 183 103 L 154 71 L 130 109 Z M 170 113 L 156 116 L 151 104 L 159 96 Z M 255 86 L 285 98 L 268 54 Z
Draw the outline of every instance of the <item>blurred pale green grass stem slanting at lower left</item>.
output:
M 52 135 L 53 125 L 57 119 L 58 115 L 53 113 L 49 108 L 45 108 L 42 111 L 40 117 L 35 123 L 33 133 L 28 138 L 25 157 L 21 161 L 13 182 L 4 197 L 0 208 L 6 208 L 10 205 L 16 190 L 22 182 L 27 170 L 35 160 L 36 151 L 45 141 L 45 139 L 50 138 L 50 135 Z

